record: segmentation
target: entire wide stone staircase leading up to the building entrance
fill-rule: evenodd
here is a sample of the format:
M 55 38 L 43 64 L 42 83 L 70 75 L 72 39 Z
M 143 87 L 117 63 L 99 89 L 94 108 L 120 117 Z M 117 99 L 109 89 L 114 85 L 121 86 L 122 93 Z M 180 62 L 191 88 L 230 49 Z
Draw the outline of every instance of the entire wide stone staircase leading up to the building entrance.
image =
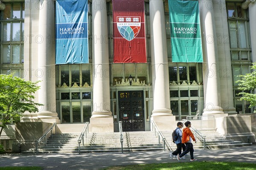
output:
M 221 136 L 216 129 L 199 130 L 206 136 L 206 149 L 217 149 L 227 147 L 248 146 L 249 143 L 242 143 L 231 139 L 226 139 Z M 166 138 L 166 151 L 175 150 L 176 144 L 172 142 L 172 131 L 162 131 Z M 195 133 L 194 133 L 195 134 Z M 46 146 L 42 142 L 38 147 L 38 153 L 78 153 L 78 139 L 80 133 L 63 133 L 53 134 L 48 140 Z M 116 133 L 87 133 L 87 138 L 84 137 L 84 145 L 80 144 L 81 153 L 92 152 L 121 152 L 119 132 Z M 139 131 L 139 132 L 123 132 L 123 151 L 150 151 L 163 150 L 163 142 L 158 136 L 155 136 L 154 131 Z M 195 148 L 204 148 L 203 140 L 196 136 L 197 143 L 193 143 Z M 25 151 L 26 153 L 35 153 L 35 148 Z

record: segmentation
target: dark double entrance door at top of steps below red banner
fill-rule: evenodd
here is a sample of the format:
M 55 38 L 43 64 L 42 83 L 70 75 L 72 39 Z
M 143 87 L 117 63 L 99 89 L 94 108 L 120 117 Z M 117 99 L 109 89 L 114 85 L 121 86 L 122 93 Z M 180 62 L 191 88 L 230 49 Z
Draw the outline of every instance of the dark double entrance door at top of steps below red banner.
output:
M 119 91 L 119 121 L 123 131 L 144 131 L 143 91 Z

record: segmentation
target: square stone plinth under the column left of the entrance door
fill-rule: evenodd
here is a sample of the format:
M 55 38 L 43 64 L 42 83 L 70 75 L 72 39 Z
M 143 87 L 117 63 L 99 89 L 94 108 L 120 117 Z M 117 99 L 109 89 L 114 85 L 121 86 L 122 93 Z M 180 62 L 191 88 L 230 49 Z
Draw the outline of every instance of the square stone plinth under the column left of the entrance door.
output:
M 91 117 L 89 124 L 90 133 L 112 133 L 114 132 L 113 117 Z

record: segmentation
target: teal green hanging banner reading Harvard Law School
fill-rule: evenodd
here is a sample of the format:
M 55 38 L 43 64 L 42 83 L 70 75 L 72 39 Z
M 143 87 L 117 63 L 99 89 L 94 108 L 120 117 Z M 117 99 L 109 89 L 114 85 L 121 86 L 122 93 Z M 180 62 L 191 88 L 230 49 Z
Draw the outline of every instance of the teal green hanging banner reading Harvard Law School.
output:
M 168 0 L 172 62 L 203 62 L 197 0 Z

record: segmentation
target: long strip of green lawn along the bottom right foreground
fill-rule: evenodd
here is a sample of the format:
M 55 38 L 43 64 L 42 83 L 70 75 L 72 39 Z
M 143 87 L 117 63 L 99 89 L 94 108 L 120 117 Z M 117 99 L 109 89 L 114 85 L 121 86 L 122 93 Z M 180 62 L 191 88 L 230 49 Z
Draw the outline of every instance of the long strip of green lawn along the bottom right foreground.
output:
M 103 170 L 256 170 L 256 164 L 244 162 L 198 161 L 184 163 L 113 166 Z

